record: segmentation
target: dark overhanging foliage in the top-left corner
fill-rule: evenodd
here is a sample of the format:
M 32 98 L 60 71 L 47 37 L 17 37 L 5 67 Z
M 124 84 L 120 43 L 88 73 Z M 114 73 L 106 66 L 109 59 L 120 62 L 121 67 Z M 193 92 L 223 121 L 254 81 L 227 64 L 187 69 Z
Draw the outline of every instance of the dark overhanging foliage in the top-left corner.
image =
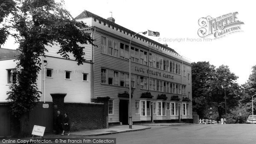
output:
M 9 36 L 9 25 L 8 23 L 3 23 L 9 14 L 13 14 L 16 11 L 16 3 L 13 0 L 1 0 L 0 2 L 0 48 L 1 45 L 5 43 L 7 37 Z

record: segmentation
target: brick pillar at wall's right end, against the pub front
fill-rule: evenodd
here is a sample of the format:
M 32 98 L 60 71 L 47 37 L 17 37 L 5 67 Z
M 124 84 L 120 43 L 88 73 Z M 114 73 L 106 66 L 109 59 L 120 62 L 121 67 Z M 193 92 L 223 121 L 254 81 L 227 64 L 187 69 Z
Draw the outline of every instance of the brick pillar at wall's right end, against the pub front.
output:
M 91 99 L 92 102 L 95 103 L 103 103 L 103 128 L 104 129 L 108 129 L 108 100 L 109 97 L 97 97 L 97 98 L 93 98 Z

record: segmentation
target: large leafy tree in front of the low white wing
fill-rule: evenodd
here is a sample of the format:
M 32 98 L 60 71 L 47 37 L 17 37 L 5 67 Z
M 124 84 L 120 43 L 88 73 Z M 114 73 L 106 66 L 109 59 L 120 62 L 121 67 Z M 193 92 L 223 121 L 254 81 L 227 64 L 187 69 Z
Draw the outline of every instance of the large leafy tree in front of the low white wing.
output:
M 10 86 L 7 100 L 11 103 L 12 114 L 20 119 L 20 136 L 28 134 L 28 112 L 39 101 L 36 80 L 41 70 L 39 56 L 45 55 L 45 46 L 60 45 L 59 54 L 69 59 L 72 53 L 78 65 L 85 60 L 84 47 L 80 44 L 93 44 L 90 33 L 81 31 L 86 24 L 77 22 L 63 8 L 63 1 L 17 0 L 17 11 L 12 16 L 12 29 L 15 29 L 20 43 L 17 57 L 17 81 Z

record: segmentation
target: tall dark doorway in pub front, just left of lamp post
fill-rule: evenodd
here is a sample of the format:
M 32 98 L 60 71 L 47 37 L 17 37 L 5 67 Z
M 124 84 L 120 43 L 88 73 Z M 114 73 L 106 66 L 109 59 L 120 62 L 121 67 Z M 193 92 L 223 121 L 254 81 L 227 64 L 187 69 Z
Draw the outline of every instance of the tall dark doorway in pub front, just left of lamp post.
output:
M 128 100 L 119 101 L 119 121 L 128 124 Z

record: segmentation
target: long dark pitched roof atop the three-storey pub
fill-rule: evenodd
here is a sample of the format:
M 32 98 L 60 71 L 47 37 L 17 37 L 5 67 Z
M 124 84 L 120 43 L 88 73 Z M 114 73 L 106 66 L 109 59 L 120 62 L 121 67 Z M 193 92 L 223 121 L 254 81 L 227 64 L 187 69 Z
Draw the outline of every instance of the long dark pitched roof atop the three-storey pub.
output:
M 136 32 L 133 32 L 133 31 L 131 31 L 130 29 L 126 29 L 126 28 L 123 27 L 123 26 L 120 26 L 120 25 L 118 25 L 118 24 L 116 24 L 116 23 L 113 23 L 113 22 L 111 22 L 111 21 L 109 21 L 109 20 L 106 20 L 105 18 L 100 17 L 100 16 L 98 16 L 98 15 L 96 15 L 96 14 L 93 14 L 93 13 L 91 13 L 91 12 L 88 12 L 88 11 L 86 11 L 86 10 L 84 10 L 84 12 L 82 12 L 82 13 L 79 14 L 77 17 L 75 17 L 75 19 L 78 20 L 78 19 L 83 19 L 83 18 L 88 18 L 88 17 L 93 17 L 94 19 L 97 19 L 97 20 L 99 20 L 99 21 L 104 22 L 104 24 L 105 24 L 105 23 L 108 23 L 109 26 L 111 25 L 111 26 L 116 27 L 116 29 L 122 29 L 122 30 L 124 30 L 125 32 L 131 33 L 132 35 L 135 35 L 135 34 L 136 34 Z M 138 35 L 139 35 L 139 34 L 138 34 Z M 148 42 L 155 43 L 155 44 L 157 44 L 157 45 L 159 45 L 159 46 L 162 46 L 162 47 L 165 48 L 165 49 L 169 49 L 170 51 L 175 52 L 174 49 L 169 48 L 168 46 L 165 46 L 165 45 L 163 45 L 163 44 L 161 44 L 161 43 L 158 43 L 158 42 L 156 42 L 156 41 L 154 41 L 154 40 L 151 40 L 151 39 L 149 39 L 148 37 L 144 37 L 143 35 L 139 35 L 139 37 L 143 38 L 144 40 L 147 40 Z M 175 52 L 175 53 L 177 53 L 177 52 Z

